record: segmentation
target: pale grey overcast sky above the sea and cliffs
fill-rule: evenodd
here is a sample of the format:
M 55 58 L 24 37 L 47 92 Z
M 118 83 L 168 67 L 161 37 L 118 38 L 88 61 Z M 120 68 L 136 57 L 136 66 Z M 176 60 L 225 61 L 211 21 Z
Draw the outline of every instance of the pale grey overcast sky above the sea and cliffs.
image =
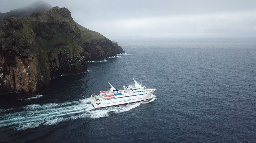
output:
M 0 0 L 8 12 L 36 0 Z M 44 0 L 109 39 L 256 37 L 256 0 Z

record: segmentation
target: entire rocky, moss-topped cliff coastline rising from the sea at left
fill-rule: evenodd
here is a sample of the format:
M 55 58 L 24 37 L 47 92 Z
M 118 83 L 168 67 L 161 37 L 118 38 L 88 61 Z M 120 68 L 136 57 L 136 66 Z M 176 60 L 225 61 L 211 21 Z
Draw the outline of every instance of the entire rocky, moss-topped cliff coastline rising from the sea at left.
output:
M 29 18 L 5 18 L 0 26 L 0 94 L 32 96 L 50 77 L 87 71 L 88 60 L 124 53 L 117 43 L 74 22 L 66 8 Z

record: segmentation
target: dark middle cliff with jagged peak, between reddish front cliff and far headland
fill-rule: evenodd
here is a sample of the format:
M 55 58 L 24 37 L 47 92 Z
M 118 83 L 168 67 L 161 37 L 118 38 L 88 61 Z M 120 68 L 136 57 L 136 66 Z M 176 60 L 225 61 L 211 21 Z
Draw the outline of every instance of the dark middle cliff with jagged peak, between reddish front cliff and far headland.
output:
M 37 43 L 47 52 L 51 77 L 87 70 L 80 30 L 68 9 L 55 7 L 30 19 Z

